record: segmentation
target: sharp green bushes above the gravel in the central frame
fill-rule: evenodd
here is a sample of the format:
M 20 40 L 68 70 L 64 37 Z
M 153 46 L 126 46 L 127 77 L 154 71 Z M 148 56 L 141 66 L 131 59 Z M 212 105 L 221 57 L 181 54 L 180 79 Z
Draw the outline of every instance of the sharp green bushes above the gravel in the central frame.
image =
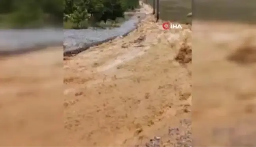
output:
M 83 23 L 96 24 L 124 17 L 124 12 L 139 6 L 139 0 L 64 0 L 64 24 L 84 28 Z M 87 24 L 88 24 L 87 23 Z M 70 26 L 70 25 L 69 25 Z

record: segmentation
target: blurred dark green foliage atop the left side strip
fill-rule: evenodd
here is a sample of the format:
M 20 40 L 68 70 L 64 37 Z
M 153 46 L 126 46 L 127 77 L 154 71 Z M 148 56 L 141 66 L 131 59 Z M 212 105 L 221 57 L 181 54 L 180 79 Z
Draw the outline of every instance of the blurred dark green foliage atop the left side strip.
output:
M 30 28 L 63 23 L 63 0 L 0 0 L 0 25 Z

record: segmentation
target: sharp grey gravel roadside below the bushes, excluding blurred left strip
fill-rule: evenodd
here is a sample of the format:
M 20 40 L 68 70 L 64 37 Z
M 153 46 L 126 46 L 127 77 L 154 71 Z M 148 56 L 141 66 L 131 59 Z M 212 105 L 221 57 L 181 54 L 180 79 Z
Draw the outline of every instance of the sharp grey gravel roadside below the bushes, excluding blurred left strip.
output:
M 145 13 L 136 13 L 130 20 L 113 29 L 64 30 L 64 56 L 72 56 L 89 47 L 126 36 L 137 28 L 137 24 L 146 17 Z

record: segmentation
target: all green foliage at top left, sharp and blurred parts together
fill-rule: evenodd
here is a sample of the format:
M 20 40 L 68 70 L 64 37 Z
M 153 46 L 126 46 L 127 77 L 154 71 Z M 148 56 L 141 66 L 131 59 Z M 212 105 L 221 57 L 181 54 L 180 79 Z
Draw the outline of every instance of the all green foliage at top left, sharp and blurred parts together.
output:
M 87 28 L 124 17 L 125 11 L 138 5 L 139 0 L 0 0 L 0 26 L 62 26 L 64 21 L 66 27 Z

